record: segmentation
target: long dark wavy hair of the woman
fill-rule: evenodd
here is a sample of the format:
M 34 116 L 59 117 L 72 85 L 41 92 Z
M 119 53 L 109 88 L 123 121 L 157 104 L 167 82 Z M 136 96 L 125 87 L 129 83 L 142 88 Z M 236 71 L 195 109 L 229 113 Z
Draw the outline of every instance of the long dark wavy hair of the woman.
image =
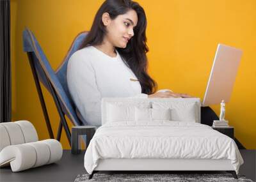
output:
M 113 20 L 118 15 L 124 15 L 129 10 L 136 11 L 138 15 L 138 23 L 134 27 L 134 36 L 132 36 L 125 48 L 116 47 L 116 50 L 140 81 L 141 92 L 152 94 L 156 92 L 157 84 L 147 73 L 147 18 L 140 4 L 131 0 L 106 0 L 97 11 L 92 28 L 80 48 L 83 49 L 89 45 L 100 45 L 103 42 L 106 34 L 106 28 L 102 22 L 103 13 L 109 13 L 109 17 Z

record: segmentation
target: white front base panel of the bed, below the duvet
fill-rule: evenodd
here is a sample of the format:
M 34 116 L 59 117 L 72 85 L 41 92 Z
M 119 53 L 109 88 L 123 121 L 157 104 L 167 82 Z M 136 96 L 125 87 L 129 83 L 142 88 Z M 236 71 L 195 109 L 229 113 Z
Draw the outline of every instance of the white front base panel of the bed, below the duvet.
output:
M 230 160 L 100 159 L 94 171 L 234 171 Z

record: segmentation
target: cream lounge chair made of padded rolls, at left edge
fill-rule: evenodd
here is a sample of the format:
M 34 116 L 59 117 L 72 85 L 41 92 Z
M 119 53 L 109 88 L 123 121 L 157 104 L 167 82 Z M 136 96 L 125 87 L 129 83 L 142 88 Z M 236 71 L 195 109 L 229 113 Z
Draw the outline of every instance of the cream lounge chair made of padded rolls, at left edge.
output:
M 13 172 L 56 162 L 61 159 L 58 140 L 38 141 L 29 121 L 0 123 L 0 167 L 10 165 Z

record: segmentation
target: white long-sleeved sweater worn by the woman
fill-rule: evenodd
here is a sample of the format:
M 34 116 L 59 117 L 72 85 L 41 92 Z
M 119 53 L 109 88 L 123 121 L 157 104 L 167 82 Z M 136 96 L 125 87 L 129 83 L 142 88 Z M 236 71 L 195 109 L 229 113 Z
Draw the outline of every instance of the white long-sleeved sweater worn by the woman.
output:
M 68 61 L 68 89 L 89 125 L 101 125 L 103 97 L 147 97 L 141 93 L 137 77 L 116 53 L 116 57 L 110 57 L 89 46 L 77 50 Z

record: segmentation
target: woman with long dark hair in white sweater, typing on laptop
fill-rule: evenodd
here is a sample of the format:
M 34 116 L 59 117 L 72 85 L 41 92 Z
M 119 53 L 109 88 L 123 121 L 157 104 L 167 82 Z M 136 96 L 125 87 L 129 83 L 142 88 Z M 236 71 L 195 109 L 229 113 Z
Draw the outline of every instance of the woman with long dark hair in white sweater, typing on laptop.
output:
M 102 97 L 190 97 L 168 89 L 156 92 L 147 73 L 146 28 L 145 11 L 134 1 L 106 0 L 97 11 L 67 68 L 68 89 L 89 125 L 101 125 Z

